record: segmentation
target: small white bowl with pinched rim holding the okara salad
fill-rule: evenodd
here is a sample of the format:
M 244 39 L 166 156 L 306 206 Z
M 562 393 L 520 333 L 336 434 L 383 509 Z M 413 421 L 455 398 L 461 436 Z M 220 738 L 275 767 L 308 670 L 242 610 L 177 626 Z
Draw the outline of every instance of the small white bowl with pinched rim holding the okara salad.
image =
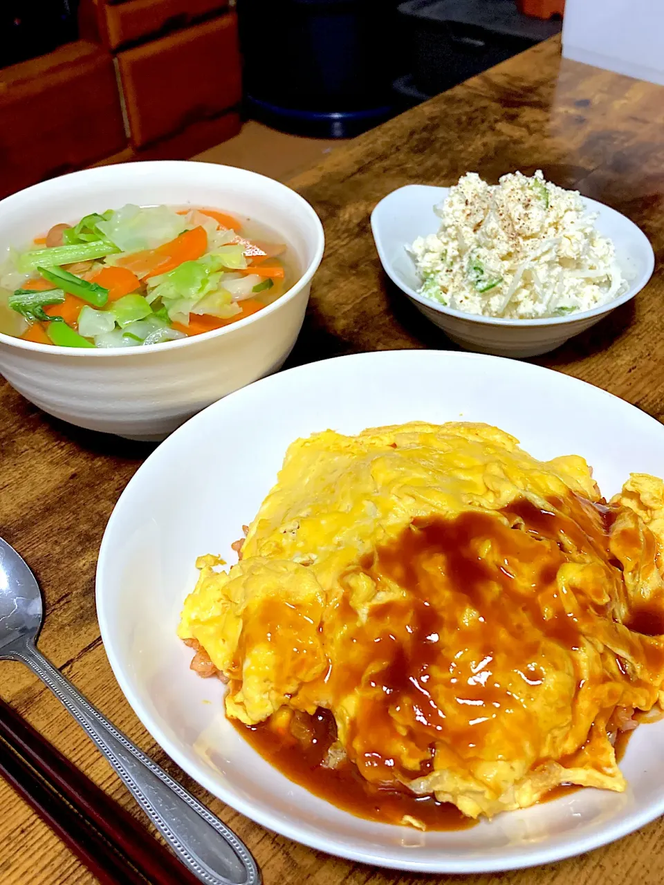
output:
M 591 311 L 552 319 L 500 319 L 481 317 L 436 304 L 418 292 L 421 280 L 405 251 L 418 236 L 436 234 L 440 219 L 434 206 L 443 202 L 449 188 L 409 184 L 383 197 L 371 215 L 371 228 L 382 266 L 390 280 L 411 299 L 415 307 L 442 328 L 453 342 L 467 350 L 500 357 L 535 357 L 548 353 L 606 317 L 644 288 L 652 275 L 655 258 L 645 234 L 620 212 L 584 197 L 588 209 L 598 212 L 598 231 L 614 241 L 615 254 L 629 289 L 609 304 Z

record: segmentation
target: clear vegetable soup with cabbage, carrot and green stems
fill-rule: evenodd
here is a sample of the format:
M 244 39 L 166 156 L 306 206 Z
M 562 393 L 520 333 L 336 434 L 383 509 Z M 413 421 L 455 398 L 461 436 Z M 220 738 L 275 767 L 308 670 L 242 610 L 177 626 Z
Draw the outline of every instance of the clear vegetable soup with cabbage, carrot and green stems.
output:
M 290 284 L 286 246 L 249 239 L 251 224 L 214 209 L 126 205 L 55 225 L 0 268 L 0 332 L 141 347 L 248 317 Z

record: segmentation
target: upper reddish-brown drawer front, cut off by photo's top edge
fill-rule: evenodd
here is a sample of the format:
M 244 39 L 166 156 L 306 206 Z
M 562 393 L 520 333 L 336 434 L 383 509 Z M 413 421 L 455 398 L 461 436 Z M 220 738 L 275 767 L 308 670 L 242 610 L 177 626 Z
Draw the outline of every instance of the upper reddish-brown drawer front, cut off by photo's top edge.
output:
M 129 0 L 99 4 L 99 30 L 109 49 L 117 50 L 165 30 L 190 25 L 228 6 L 228 0 Z

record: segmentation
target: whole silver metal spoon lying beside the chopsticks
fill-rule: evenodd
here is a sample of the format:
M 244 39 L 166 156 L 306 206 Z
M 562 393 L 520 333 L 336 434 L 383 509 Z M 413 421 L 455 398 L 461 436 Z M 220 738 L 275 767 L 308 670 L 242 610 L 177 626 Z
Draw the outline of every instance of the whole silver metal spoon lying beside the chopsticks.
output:
M 206 885 L 259 885 L 249 850 L 221 821 L 102 716 L 35 646 L 42 627 L 35 575 L 0 538 L 0 660 L 22 661 L 65 704 L 159 833 Z

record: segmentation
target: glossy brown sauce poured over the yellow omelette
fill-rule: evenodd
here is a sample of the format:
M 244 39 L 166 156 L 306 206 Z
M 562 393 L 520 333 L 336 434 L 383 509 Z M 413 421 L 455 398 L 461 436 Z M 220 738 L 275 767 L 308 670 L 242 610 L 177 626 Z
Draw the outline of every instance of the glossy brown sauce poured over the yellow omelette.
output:
M 551 508 L 542 509 L 521 499 L 503 515 L 507 522 L 479 511 L 453 519 L 414 520 L 342 578 L 344 596 L 325 627 L 328 641 L 336 643 L 337 657 L 324 676 L 324 688 L 314 683 L 302 690 L 306 696 L 327 692 L 338 700 L 363 686 L 345 740 L 352 748 L 351 760 L 346 758 L 336 768 L 322 765 L 336 739 L 335 722 L 325 710 L 313 717 L 295 714 L 304 727 L 304 741 L 290 728 L 274 730 L 270 722 L 256 727 L 235 722 L 238 731 L 291 781 L 359 817 L 400 823 L 408 816 L 434 830 L 472 826 L 474 821 L 454 805 L 416 797 L 401 781 L 431 771 L 432 750 L 439 740 L 447 741 L 459 759 L 472 760 L 499 735 L 506 758 L 518 758 L 524 735 L 536 727 L 536 720 L 528 704 L 513 703 L 513 673 L 521 675 L 524 694 L 530 686 L 536 696 L 544 680 L 537 663 L 542 631 L 546 641 L 561 650 L 579 650 L 584 630 L 608 616 L 602 585 L 613 585 L 614 592 L 622 586 L 622 566 L 608 543 L 615 518 L 612 508 L 576 496 L 553 499 Z M 646 534 L 650 535 L 647 530 Z M 634 555 L 640 555 L 637 538 L 633 540 Z M 631 552 L 629 538 L 622 543 Z M 560 566 L 569 561 L 570 545 L 597 563 L 575 588 L 571 611 L 569 601 L 567 607 L 562 604 L 556 582 Z M 406 593 L 374 604 L 363 623 L 349 603 L 352 579 L 359 575 L 374 581 L 378 591 L 389 580 Z M 469 607 L 475 612 L 471 622 Z M 629 627 L 645 636 L 660 635 L 662 606 L 632 612 Z M 466 650 L 465 658 L 459 659 L 459 649 Z M 653 666 L 664 662 L 660 648 L 639 653 Z M 482 668 L 478 671 L 473 661 L 482 661 L 489 678 L 478 676 Z M 431 687 L 436 695 L 429 690 L 432 673 L 437 674 Z M 445 708 L 441 697 L 448 698 Z M 395 732 L 395 717 L 404 729 L 403 739 Z M 421 759 L 419 770 L 412 764 L 401 766 L 402 741 L 410 747 L 410 758 Z M 627 736 L 620 737 L 619 752 L 626 741 Z M 575 788 L 561 785 L 548 797 L 571 789 Z

